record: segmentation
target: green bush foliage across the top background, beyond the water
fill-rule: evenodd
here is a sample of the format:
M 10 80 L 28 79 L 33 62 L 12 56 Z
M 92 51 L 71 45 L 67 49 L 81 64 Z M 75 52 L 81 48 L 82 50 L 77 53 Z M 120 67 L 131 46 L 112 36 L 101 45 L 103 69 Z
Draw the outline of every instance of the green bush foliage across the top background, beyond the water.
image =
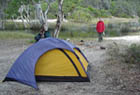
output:
M 38 0 L 36 0 L 38 1 Z M 43 11 L 46 10 L 47 4 L 45 0 L 40 0 Z M 30 4 L 31 14 L 33 16 L 33 5 L 31 0 L 11 0 L 5 13 L 8 18 L 19 16 L 18 9 L 21 4 Z M 139 0 L 64 0 L 63 12 L 67 19 L 77 19 L 77 15 L 81 14 L 82 19 L 85 17 L 134 17 L 140 16 Z M 58 10 L 58 1 L 52 3 L 48 17 L 56 18 Z M 76 13 L 77 12 L 77 13 Z M 78 20 L 79 21 L 79 20 Z M 87 20 L 85 20 L 87 21 Z

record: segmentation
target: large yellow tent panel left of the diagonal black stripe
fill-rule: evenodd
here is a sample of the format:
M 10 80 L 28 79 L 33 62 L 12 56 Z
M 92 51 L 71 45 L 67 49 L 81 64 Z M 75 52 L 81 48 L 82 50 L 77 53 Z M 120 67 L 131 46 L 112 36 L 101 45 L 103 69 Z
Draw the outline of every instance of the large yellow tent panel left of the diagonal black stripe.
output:
M 59 49 L 43 54 L 36 64 L 35 75 L 78 76 L 71 61 Z

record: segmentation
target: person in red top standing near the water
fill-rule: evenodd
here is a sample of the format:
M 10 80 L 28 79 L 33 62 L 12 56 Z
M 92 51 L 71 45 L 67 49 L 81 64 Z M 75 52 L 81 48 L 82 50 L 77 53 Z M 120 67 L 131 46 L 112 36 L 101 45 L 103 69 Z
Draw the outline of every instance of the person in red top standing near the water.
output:
M 103 32 L 105 30 L 105 25 L 104 22 L 99 18 L 99 21 L 97 22 L 96 25 L 96 31 L 98 32 L 98 41 L 101 42 L 103 41 Z

